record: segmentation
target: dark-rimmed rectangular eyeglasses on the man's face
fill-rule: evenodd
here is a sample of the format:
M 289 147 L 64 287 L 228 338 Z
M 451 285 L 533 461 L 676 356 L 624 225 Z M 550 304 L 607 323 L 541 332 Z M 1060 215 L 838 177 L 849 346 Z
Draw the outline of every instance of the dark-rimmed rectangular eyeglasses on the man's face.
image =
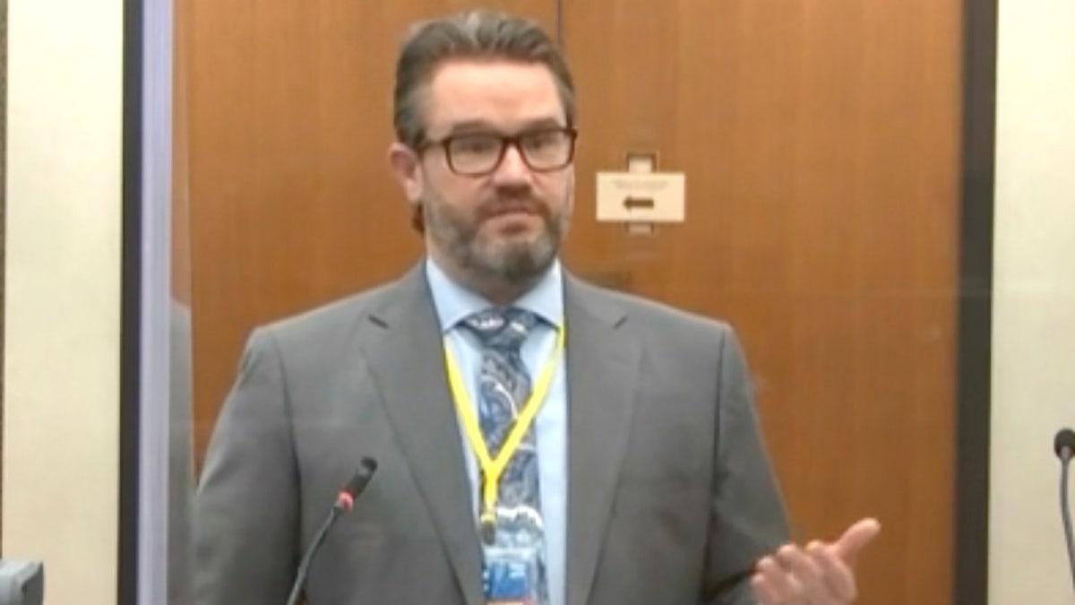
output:
M 528 130 L 512 137 L 465 132 L 427 141 L 417 151 L 440 145 L 453 172 L 464 177 L 484 177 L 500 167 L 508 145 L 512 145 L 531 170 L 551 172 L 565 168 L 574 159 L 577 137 L 577 131 L 571 127 Z

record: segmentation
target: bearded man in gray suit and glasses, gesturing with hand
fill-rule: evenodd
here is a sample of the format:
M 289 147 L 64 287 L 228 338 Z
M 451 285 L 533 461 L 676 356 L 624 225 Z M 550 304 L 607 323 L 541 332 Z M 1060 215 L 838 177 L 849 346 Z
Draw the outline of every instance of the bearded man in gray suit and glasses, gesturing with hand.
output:
M 828 605 L 878 531 L 786 545 L 732 329 L 574 278 L 574 86 L 540 28 L 416 27 L 389 159 L 427 258 L 255 330 L 196 504 L 198 603 Z M 782 546 L 784 545 L 784 546 Z

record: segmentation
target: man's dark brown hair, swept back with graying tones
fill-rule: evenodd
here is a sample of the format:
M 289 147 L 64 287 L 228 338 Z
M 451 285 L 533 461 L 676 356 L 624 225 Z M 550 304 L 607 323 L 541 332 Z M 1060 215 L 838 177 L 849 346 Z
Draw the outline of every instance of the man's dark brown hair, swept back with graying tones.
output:
M 548 67 L 556 80 L 568 125 L 575 124 L 575 85 L 563 55 L 535 22 L 487 10 L 416 24 L 396 61 L 393 124 L 401 143 L 425 142 L 420 88 L 433 70 L 455 58 L 511 59 Z

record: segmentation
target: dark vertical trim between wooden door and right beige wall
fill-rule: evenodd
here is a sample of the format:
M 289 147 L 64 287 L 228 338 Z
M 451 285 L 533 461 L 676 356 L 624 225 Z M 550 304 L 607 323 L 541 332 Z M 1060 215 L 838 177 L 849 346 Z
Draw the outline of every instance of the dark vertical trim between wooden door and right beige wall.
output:
M 987 605 L 998 0 L 963 2 L 962 216 L 952 603 Z

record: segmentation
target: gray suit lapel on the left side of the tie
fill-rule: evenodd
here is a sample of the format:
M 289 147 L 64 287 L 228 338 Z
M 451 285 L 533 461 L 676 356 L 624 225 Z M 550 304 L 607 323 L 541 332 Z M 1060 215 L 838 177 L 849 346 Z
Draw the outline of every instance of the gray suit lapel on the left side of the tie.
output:
M 482 603 L 481 545 L 462 442 L 445 379 L 441 328 L 421 266 L 371 321 L 385 329 L 367 356 L 411 473 L 470 605 Z

